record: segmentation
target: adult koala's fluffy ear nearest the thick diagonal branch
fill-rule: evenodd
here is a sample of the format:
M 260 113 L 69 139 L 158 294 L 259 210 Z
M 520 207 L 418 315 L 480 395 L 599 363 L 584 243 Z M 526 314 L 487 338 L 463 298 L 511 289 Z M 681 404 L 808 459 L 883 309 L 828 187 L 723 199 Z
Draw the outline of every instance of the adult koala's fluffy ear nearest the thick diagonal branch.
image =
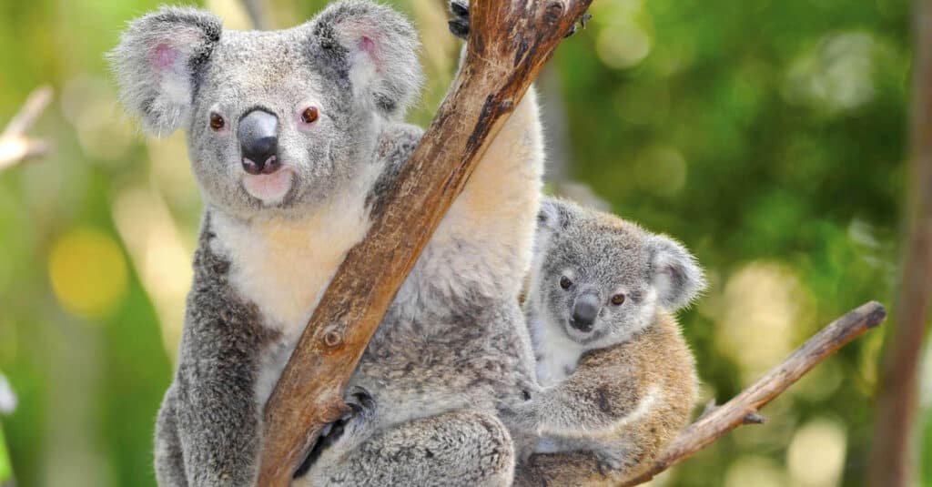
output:
M 387 118 L 401 118 L 418 96 L 420 41 L 411 22 L 391 7 L 346 0 L 313 21 L 315 42 L 345 65 L 353 95 Z

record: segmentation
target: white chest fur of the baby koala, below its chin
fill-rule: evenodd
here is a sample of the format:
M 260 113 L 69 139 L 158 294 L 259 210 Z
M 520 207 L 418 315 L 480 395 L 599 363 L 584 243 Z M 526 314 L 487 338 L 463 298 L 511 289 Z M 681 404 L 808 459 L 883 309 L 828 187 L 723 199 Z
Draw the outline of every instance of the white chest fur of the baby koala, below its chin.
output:
M 544 387 L 562 382 L 576 369 L 585 349 L 567 337 L 562 329 L 545 323 L 541 318 L 530 318 L 531 340 L 537 357 L 537 380 Z

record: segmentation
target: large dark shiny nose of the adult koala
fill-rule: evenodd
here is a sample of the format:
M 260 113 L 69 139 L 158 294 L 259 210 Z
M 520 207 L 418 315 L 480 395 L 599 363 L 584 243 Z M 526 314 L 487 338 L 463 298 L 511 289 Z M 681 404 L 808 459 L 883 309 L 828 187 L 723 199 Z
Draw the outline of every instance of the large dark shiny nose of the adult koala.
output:
M 240 119 L 242 169 L 249 174 L 272 174 L 279 170 L 279 118 L 256 108 Z

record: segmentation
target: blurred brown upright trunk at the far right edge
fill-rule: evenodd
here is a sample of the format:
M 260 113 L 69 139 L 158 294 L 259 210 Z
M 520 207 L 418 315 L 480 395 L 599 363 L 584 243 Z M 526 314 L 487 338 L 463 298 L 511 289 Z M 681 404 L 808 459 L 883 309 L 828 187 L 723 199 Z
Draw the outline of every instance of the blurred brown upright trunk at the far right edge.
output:
M 917 484 L 919 360 L 932 298 L 932 0 L 916 0 L 911 154 L 898 299 L 879 377 L 870 485 Z

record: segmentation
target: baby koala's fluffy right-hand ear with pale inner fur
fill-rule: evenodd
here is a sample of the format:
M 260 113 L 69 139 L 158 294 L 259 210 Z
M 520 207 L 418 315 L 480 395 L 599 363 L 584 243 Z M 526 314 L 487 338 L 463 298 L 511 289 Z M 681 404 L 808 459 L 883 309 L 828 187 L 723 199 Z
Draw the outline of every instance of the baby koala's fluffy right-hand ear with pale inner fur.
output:
M 647 249 L 651 281 L 665 309 L 676 311 L 706 289 L 706 276 L 686 247 L 664 235 L 651 235 Z

